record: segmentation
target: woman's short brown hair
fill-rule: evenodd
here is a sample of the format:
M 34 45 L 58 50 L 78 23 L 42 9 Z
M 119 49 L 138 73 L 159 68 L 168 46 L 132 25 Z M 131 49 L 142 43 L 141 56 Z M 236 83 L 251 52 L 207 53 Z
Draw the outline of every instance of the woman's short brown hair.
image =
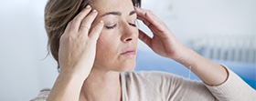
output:
M 140 7 L 141 0 L 132 0 L 133 5 Z M 58 62 L 59 68 L 59 38 L 69 21 L 78 15 L 82 8 L 93 0 L 48 0 L 45 8 L 45 28 L 48 34 L 48 52 Z

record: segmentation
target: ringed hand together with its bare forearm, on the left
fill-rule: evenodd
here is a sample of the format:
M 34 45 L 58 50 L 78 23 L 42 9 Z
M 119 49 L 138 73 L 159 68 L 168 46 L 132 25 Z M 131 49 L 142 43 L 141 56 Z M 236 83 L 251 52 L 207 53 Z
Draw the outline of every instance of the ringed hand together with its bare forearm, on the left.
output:
M 69 22 L 59 40 L 60 72 L 48 96 L 48 101 L 78 101 L 80 89 L 89 76 L 96 55 L 96 43 L 103 22 L 92 22 L 98 13 L 84 8 Z

